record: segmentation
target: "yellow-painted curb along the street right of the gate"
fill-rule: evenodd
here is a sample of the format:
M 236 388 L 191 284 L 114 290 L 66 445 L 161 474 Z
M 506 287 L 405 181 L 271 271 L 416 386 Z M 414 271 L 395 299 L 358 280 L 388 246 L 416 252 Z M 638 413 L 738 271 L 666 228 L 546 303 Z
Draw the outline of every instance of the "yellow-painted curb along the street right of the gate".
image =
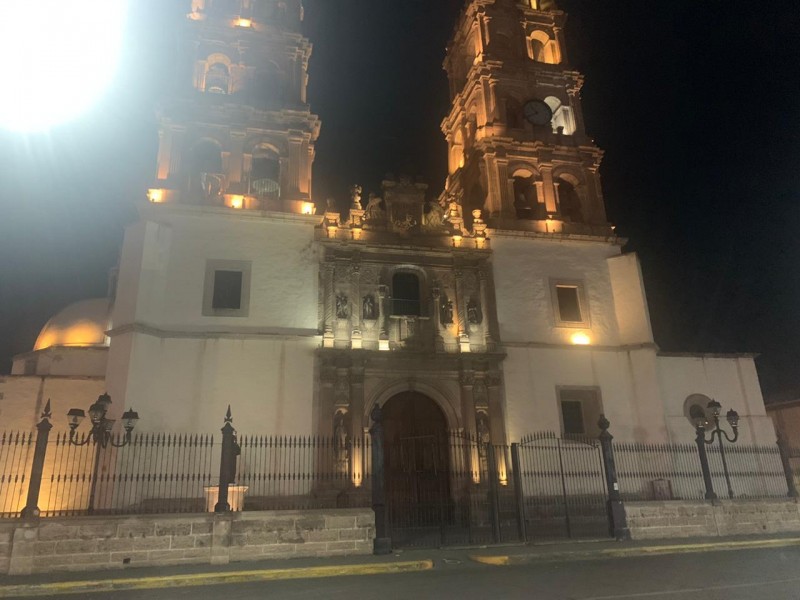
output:
M 693 554 L 699 552 L 718 552 L 730 550 L 747 550 L 750 548 L 781 548 L 800 545 L 800 538 L 784 538 L 774 540 L 743 540 L 738 542 L 705 542 L 699 544 L 672 544 L 667 546 L 635 546 L 628 548 L 606 548 L 603 550 L 576 550 L 572 552 L 549 552 L 547 554 L 517 554 L 478 556 L 470 555 L 473 560 L 484 565 L 495 567 L 522 565 L 533 562 L 553 562 L 560 560 L 589 560 L 603 558 L 622 558 L 626 556 L 647 556 L 663 554 Z

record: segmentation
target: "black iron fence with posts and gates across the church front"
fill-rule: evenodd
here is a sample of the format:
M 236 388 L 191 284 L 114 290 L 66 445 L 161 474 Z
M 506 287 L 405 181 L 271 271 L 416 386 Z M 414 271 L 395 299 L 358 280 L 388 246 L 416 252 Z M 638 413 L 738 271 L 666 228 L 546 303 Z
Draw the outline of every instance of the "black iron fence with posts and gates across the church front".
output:
M 0 516 L 373 507 L 377 537 L 441 546 L 625 535 L 622 501 L 796 496 L 800 449 L 612 441 L 552 432 L 351 437 L 0 435 Z M 702 445 L 701 445 L 702 444 Z M 701 451 L 701 448 L 703 451 Z M 712 495 L 710 495 L 712 494 Z

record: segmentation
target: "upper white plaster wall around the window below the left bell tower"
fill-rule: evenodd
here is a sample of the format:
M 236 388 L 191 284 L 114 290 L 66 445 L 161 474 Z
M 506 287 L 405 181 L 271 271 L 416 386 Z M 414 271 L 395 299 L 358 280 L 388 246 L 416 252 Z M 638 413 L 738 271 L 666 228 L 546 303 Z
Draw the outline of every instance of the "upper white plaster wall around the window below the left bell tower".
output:
M 133 322 L 165 329 L 318 328 L 313 218 L 165 213 L 126 234 L 116 329 Z M 246 317 L 202 315 L 207 260 L 251 261 Z M 135 299 L 135 303 L 131 299 Z

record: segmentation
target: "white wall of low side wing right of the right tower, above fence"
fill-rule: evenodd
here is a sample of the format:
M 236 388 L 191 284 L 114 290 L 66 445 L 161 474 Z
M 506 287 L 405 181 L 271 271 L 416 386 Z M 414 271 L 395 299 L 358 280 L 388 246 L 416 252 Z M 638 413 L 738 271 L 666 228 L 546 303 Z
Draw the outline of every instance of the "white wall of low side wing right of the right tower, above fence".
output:
M 659 356 L 658 375 L 673 441 L 694 440 L 694 429 L 683 414 L 683 405 L 691 394 L 704 394 L 722 404 L 723 413 L 731 408 L 739 413 L 743 443 L 775 443 L 775 429 L 764 408 L 752 358 Z

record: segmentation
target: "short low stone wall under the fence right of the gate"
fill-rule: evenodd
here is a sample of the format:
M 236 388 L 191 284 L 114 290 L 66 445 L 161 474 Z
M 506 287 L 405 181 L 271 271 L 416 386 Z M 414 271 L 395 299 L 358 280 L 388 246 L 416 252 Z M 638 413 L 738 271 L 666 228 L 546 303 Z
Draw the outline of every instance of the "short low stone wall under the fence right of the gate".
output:
M 800 502 L 792 498 L 626 502 L 635 540 L 800 533 Z

